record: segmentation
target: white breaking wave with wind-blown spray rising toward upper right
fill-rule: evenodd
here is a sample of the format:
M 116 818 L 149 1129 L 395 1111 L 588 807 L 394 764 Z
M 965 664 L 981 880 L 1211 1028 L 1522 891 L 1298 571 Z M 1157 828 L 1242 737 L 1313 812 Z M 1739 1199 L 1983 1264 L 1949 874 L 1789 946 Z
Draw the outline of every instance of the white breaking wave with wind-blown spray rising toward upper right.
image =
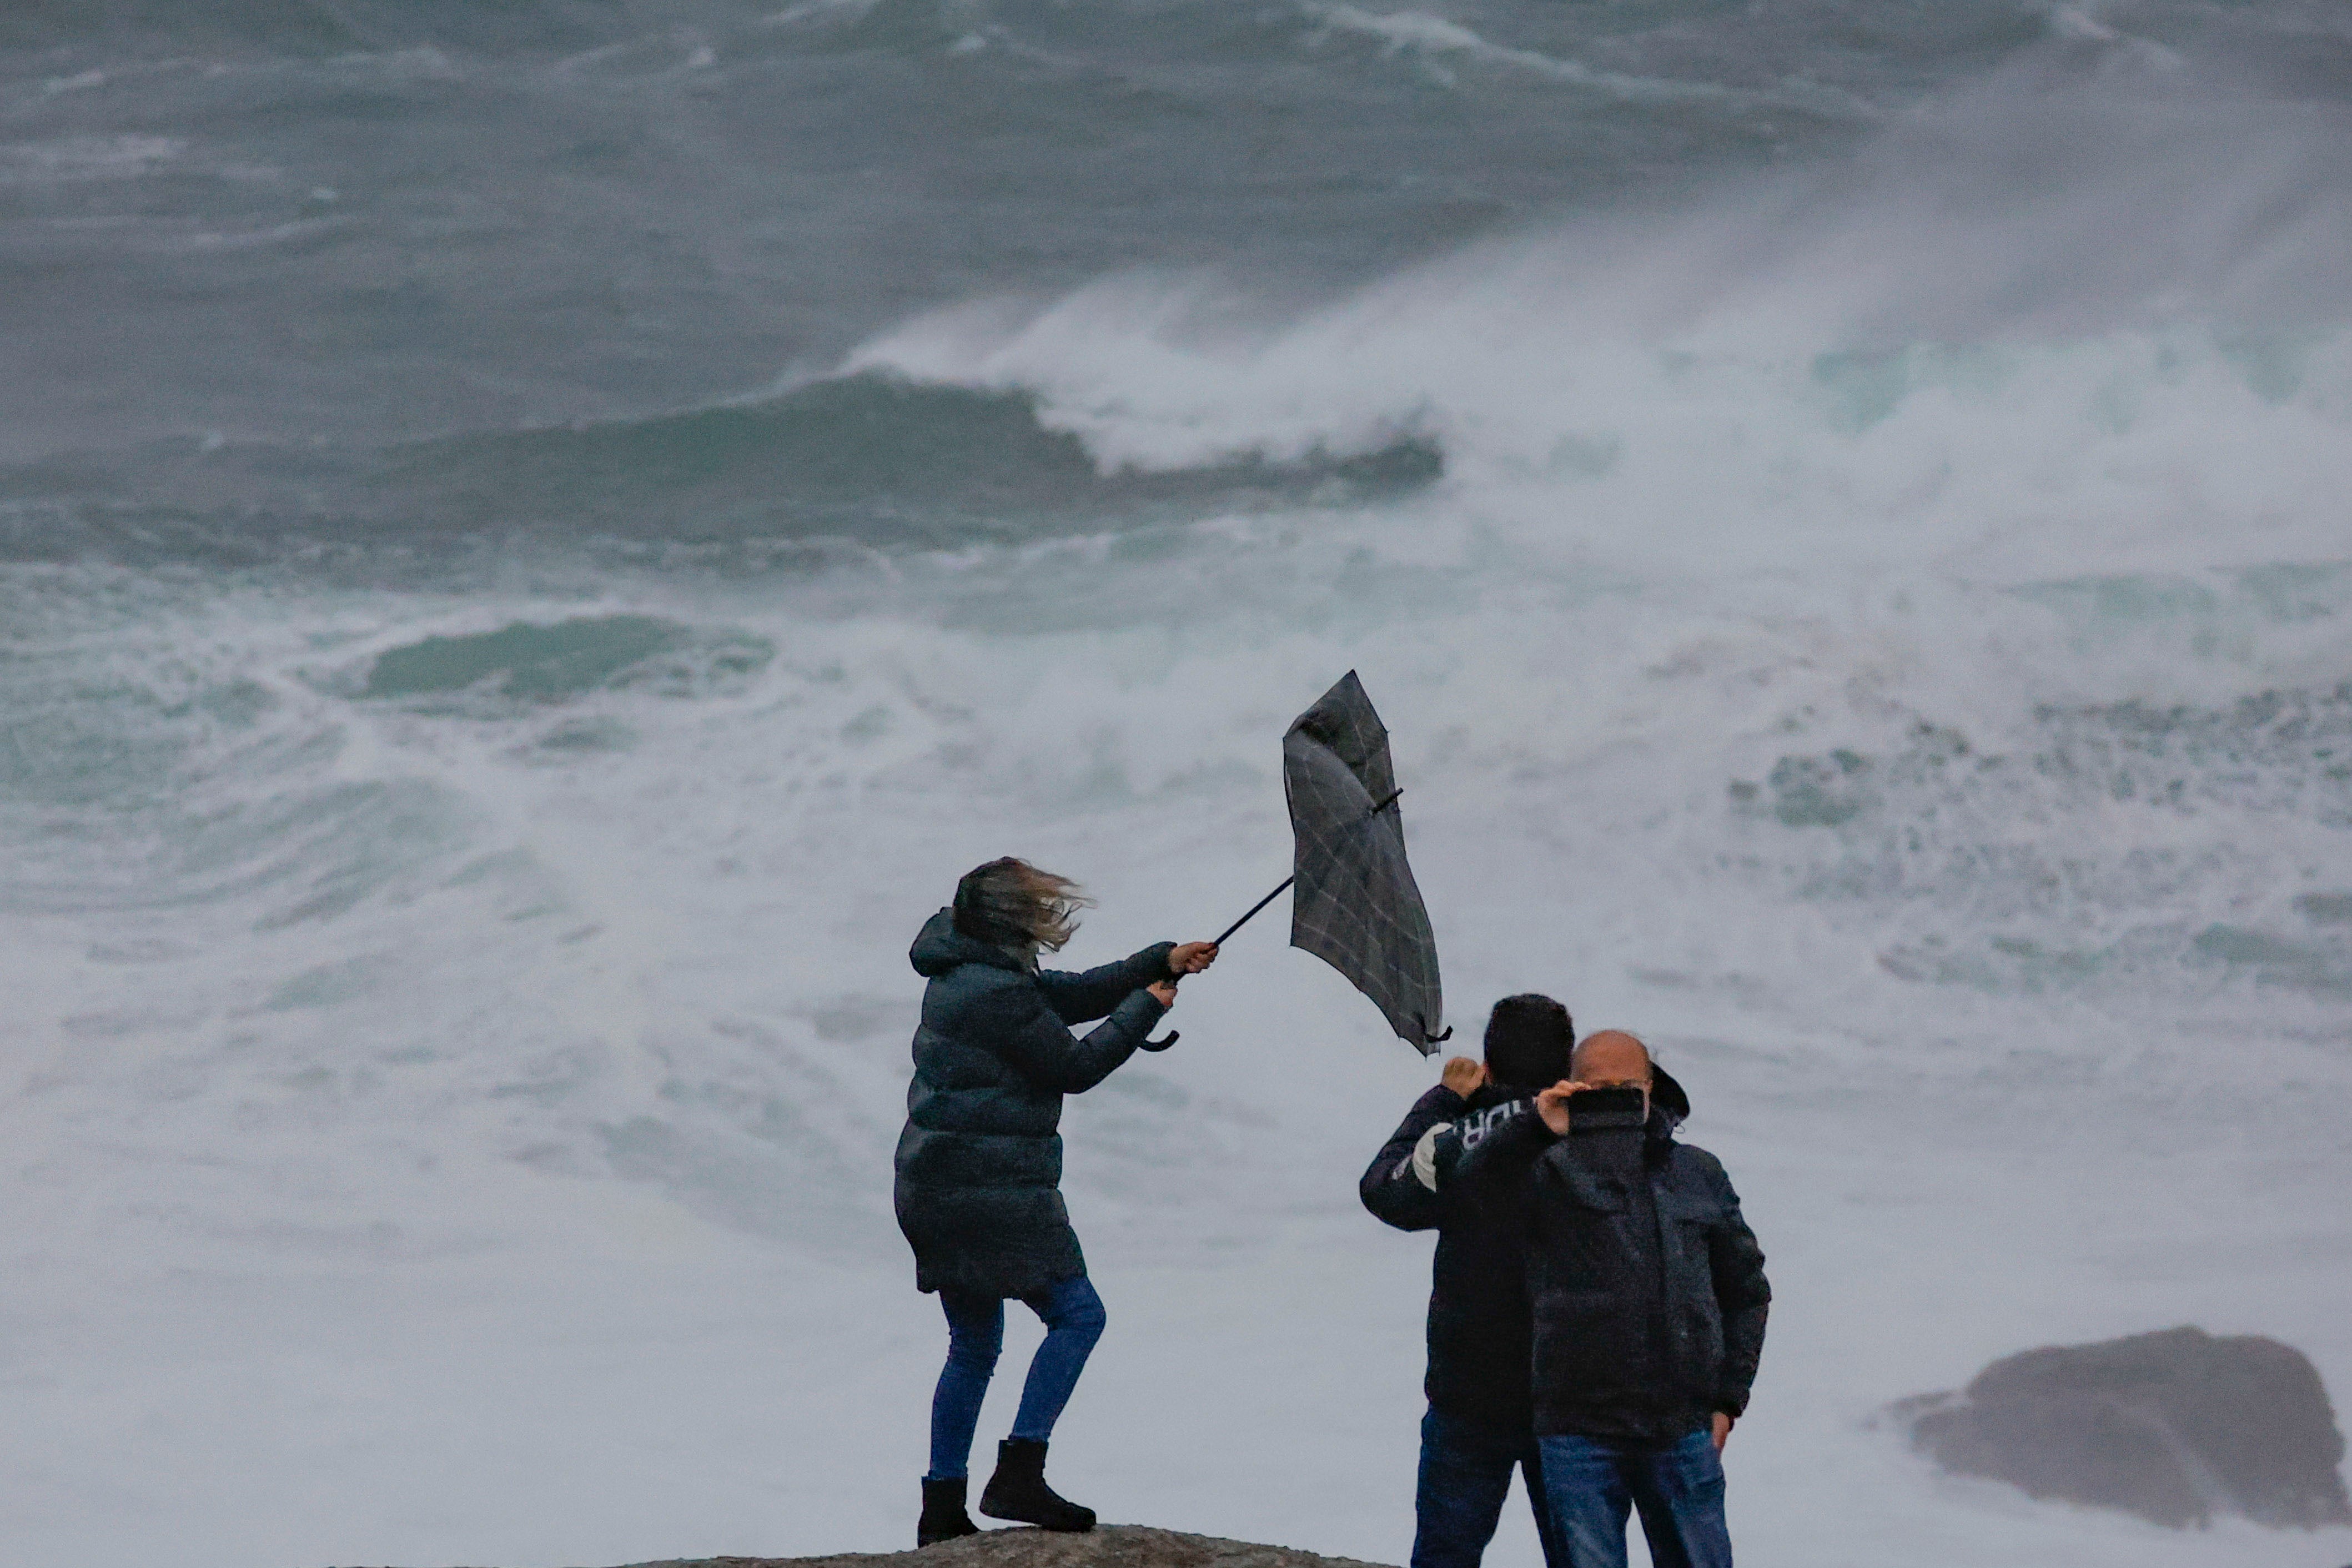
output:
M 2154 115 L 2159 87 L 2004 78 L 1832 172 L 1472 247 L 1256 331 L 1211 324 L 1249 315 L 1223 282 L 1112 277 L 936 313 L 847 364 L 1035 393 L 1120 468 L 1414 428 L 1451 501 L 1651 562 L 2006 538 L 2032 571 L 2093 571 L 2218 529 L 2246 559 L 2328 555 L 2352 129 L 2263 101 Z

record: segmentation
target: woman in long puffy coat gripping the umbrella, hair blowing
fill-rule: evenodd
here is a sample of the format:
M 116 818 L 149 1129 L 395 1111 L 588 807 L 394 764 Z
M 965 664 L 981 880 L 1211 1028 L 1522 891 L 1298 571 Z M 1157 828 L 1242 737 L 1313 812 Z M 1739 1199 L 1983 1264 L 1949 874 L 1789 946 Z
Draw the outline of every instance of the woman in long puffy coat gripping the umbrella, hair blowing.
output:
M 929 980 L 915 1030 L 915 1081 L 898 1135 L 898 1229 L 915 1248 L 915 1288 L 948 1312 L 948 1366 L 931 1396 L 931 1469 L 915 1544 L 971 1535 L 964 1512 L 971 1436 L 1004 1347 L 1004 1302 L 1044 1326 L 1011 1436 L 981 1512 L 1047 1530 L 1091 1530 L 1094 1509 L 1044 1483 L 1044 1450 L 1094 1342 L 1103 1302 L 1061 1201 L 1061 1098 L 1094 1088 L 1176 1004 L 1176 980 L 1216 959 L 1214 943 L 1157 943 L 1084 973 L 1037 966 L 1077 931 L 1087 900 L 1028 860 L 964 875 L 955 903 L 908 959 Z M 1101 1018 L 1077 1037 L 1070 1025 Z M 1164 1041 L 1162 1041 L 1164 1044 Z

